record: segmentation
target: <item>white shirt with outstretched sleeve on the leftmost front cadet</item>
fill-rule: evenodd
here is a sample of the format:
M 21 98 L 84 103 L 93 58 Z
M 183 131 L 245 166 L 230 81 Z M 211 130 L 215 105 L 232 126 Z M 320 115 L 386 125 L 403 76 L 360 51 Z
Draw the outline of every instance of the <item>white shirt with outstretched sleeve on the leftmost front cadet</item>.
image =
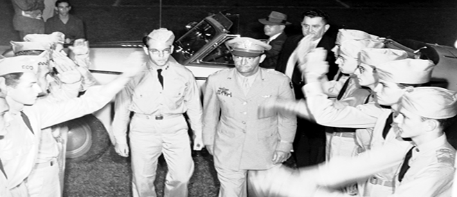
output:
M 20 114 L 13 115 L 7 127 L 8 133 L 0 140 L 0 158 L 8 175 L 9 188 L 17 187 L 32 171 L 41 129 L 92 113 L 107 104 L 111 96 L 100 95 L 100 86 L 96 86 L 89 88 L 82 97 L 65 102 L 24 106 L 23 111 L 30 120 L 33 133 Z

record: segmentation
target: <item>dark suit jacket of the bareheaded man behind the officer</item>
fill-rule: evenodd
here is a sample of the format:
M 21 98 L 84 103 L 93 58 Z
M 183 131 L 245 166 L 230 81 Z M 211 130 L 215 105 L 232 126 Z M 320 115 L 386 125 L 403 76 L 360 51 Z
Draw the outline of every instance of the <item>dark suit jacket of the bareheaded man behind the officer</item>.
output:
M 287 61 L 289 60 L 290 55 L 294 52 L 295 48 L 298 45 L 298 42 L 303 38 L 303 35 L 294 35 L 292 37 L 288 37 L 283 45 L 283 50 L 279 54 L 278 64 L 275 68 L 276 71 L 281 73 L 285 73 L 285 68 L 287 66 Z M 327 59 L 326 61 L 330 65 L 329 71 L 327 73 L 328 79 L 332 80 L 334 75 L 338 72 L 338 65 L 335 64 L 335 56 L 334 53 L 331 51 L 332 48 L 335 46 L 335 41 L 337 39 L 337 34 L 334 31 L 327 31 L 323 35 L 319 44 L 316 47 L 323 47 L 327 50 Z M 296 99 L 304 98 L 303 92 L 301 91 L 301 87 L 304 85 L 303 80 L 301 79 L 301 72 L 296 65 L 294 69 L 294 74 L 292 75 L 292 84 L 294 84 L 294 91 Z

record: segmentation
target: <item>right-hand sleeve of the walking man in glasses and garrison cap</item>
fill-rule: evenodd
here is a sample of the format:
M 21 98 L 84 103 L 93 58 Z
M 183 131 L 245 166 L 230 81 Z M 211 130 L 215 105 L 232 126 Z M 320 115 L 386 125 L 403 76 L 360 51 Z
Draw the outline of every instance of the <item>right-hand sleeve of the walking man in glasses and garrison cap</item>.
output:
M 192 73 L 190 73 L 188 83 L 188 91 L 184 97 L 184 102 L 187 107 L 187 115 L 189 117 L 190 127 L 192 128 L 194 135 L 201 136 L 201 102 L 199 88 Z

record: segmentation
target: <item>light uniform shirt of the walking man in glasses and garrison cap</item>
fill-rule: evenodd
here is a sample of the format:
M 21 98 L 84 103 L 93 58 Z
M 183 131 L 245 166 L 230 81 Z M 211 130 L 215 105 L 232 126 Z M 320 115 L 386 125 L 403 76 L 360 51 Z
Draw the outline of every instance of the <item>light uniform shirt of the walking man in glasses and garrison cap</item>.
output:
M 161 75 L 163 88 L 156 68 L 145 66 L 145 70 L 116 95 L 113 133 L 117 143 L 127 144 L 130 111 L 152 116 L 187 113 L 192 130 L 201 133 L 199 88 L 192 72 L 170 61 Z

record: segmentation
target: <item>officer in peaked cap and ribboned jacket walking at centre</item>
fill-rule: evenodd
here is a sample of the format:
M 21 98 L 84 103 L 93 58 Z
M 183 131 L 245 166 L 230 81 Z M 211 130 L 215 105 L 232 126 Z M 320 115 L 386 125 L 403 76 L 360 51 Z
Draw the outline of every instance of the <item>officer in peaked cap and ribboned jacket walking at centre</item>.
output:
M 296 118 L 258 110 L 269 97 L 293 100 L 290 79 L 260 68 L 271 46 L 249 37 L 227 41 L 235 68 L 208 77 L 204 89 L 203 133 L 215 158 L 219 196 L 247 196 L 247 172 L 262 173 L 289 158 Z M 219 119 L 220 113 L 220 119 Z M 248 176 L 248 177 L 249 177 Z

